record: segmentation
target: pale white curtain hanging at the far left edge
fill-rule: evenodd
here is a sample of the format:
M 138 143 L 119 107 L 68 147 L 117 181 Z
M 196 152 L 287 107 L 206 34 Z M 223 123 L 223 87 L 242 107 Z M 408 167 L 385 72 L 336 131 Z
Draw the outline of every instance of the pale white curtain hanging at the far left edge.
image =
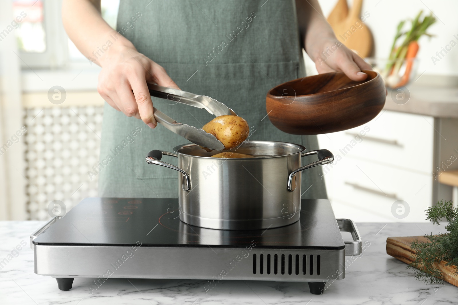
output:
M 0 7 L 0 220 L 25 220 L 21 59 L 14 30 L 10 31 L 12 1 L 0 0 Z

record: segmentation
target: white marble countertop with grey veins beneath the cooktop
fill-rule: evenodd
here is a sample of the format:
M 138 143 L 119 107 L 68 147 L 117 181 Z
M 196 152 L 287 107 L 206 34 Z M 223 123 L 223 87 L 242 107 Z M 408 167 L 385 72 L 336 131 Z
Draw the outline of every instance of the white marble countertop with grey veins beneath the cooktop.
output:
M 437 233 L 431 224 L 360 223 L 368 246 L 358 257 L 347 257 L 343 280 L 327 284 L 322 295 L 309 292 L 305 283 L 267 281 L 222 281 L 208 294 L 206 281 L 174 279 L 110 278 L 90 294 L 90 278 L 75 278 L 73 288 L 60 291 L 55 278 L 33 273 L 33 250 L 29 235 L 38 221 L 0 221 L 0 262 L 13 251 L 15 257 L 0 263 L 0 304 L 457 304 L 458 287 L 426 285 L 415 280 L 403 262 L 386 254 L 388 236 Z M 22 246 L 27 243 L 26 246 Z M 4 262 L 4 261 L 3 261 Z

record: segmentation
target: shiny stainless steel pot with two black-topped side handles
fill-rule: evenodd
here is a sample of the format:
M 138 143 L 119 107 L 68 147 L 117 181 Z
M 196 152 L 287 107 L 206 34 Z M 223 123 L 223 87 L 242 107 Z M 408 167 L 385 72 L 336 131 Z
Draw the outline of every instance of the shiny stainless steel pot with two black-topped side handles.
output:
M 210 158 L 196 144 L 174 152 L 152 150 L 148 164 L 179 171 L 180 219 L 190 225 L 221 230 L 256 230 L 294 223 L 300 214 L 301 171 L 333 162 L 329 150 L 305 152 L 298 144 L 247 141 L 235 152 L 254 158 Z M 161 161 L 178 157 L 178 167 Z M 301 157 L 318 161 L 301 166 Z

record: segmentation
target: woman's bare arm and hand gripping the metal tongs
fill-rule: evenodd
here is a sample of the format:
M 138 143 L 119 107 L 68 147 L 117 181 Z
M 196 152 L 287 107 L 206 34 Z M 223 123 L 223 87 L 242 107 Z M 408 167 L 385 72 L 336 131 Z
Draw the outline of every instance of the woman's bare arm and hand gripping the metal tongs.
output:
M 156 127 L 147 82 L 178 89 L 164 68 L 138 53 L 128 39 L 104 21 L 100 0 L 64 0 L 62 21 L 82 54 L 102 67 L 97 89 L 104 100 L 125 115 Z M 109 47 L 108 41 L 112 43 Z M 102 52 L 103 47 L 106 50 Z

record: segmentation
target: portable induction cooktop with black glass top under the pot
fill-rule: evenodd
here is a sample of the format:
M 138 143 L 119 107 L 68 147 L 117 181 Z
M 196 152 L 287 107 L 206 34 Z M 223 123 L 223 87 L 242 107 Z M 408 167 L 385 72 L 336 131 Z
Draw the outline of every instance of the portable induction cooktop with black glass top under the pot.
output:
M 353 221 L 335 219 L 326 199 L 303 199 L 300 220 L 267 230 L 213 230 L 180 221 L 178 199 L 86 198 L 31 235 L 35 273 L 69 290 L 74 278 L 191 278 L 308 282 L 321 294 L 359 255 Z M 343 241 L 341 231 L 351 233 Z

